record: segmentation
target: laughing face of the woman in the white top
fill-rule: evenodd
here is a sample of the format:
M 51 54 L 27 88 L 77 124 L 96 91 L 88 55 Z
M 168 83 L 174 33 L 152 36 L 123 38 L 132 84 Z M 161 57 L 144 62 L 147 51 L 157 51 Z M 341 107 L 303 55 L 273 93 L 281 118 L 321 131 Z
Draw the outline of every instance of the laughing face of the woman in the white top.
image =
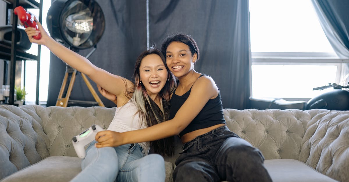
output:
M 157 54 L 145 56 L 139 67 L 139 75 L 144 88 L 153 100 L 157 97 L 162 88 L 164 88 L 168 79 L 166 67 Z

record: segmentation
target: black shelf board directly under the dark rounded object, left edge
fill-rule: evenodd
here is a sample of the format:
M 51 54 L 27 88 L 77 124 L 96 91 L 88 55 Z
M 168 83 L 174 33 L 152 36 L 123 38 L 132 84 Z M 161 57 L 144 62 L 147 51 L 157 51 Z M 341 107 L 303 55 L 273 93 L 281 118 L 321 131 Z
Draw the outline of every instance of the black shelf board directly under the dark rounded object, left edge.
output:
M 11 46 L 0 44 L 0 59 L 11 60 Z M 38 56 L 17 49 L 16 61 L 38 60 Z

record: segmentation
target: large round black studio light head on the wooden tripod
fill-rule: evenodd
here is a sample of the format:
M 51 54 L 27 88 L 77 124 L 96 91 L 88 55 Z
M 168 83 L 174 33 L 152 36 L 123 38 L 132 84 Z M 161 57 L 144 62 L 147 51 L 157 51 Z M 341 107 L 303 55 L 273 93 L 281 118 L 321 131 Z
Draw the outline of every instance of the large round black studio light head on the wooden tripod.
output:
M 47 12 L 51 37 L 77 50 L 96 45 L 104 28 L 102 9 L 94 0 L 55 0 Z

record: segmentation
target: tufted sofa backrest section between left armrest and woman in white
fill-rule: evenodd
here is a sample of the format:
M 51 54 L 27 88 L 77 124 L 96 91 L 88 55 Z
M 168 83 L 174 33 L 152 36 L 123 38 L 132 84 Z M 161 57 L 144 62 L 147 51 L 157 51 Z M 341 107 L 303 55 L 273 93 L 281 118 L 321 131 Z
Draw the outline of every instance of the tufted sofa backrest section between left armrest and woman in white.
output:
M 77 157 L 72 138 L 93 124 L 107 129 L 115 115 L 115 108 L 50 106 L 41 109 L 38 115 L 43 121 L 44 132 L 50 138 L 47 144 L 50 156 Z

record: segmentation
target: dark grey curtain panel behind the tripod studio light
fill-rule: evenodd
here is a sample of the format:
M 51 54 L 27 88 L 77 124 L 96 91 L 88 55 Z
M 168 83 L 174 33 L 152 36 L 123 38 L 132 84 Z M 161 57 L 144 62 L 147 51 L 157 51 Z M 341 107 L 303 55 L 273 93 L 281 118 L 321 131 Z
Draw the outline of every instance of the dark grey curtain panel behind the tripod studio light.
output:
M 110 73 L 133 79 L 133 66 L 138 55 L 147 50 L 146 1 L 145 0 L 96 0 L 105 17 L 105 31 L 97 44 L 97 50 L 89 60 Z M 92 48 L 80 50 L 86 56 Z M 47 106 L 54 106 L 63 81 L 66 64 L 51 53 Z M 114 107 L 111 101 L 99 94 L 96 84 L 91 85 L 106 107 Z M 69 100 L 95 101 L 81 75 L 77 75 Z M 68 106 L 91 106 L 68 104 Z M 97 106 L 97 105 L 96 105 Z

